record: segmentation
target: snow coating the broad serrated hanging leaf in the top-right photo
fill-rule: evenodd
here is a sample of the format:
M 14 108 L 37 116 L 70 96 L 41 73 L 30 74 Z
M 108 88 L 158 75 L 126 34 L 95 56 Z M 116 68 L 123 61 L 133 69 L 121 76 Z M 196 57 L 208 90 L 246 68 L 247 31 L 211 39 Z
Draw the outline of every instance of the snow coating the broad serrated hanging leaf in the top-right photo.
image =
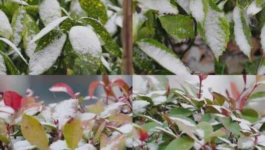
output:
M 227 44 L 225 32 L 220 26 L 219 17 L 224 18 L 224 13 L 217 12 L 209 6 L 205 16 L 205 37 L 217 59 L 222 55 Z

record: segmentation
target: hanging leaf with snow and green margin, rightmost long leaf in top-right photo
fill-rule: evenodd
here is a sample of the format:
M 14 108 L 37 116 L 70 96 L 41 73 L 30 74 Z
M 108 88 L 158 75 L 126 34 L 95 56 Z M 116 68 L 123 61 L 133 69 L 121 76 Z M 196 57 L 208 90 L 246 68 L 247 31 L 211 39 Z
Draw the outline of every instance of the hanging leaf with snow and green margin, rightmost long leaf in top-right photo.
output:
M 233 10 L 234 36 L 240 50 L 251 59 L 251 31 L 244 12 L 235 7 Z

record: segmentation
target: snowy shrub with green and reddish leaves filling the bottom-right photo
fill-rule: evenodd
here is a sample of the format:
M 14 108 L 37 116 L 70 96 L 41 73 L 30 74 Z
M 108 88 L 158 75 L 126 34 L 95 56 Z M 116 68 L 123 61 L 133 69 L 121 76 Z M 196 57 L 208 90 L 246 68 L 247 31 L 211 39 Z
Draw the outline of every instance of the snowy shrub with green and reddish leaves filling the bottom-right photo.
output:
M 242 91 L 231 82 L 226 95 L 210 88 L 210 99 L 201 88 L 207 77 L 170 88 L 166 76 L 142 75 L 133 90 L 134 150 L 264 150 L 261 76 L 247 87 L 244 75 Z

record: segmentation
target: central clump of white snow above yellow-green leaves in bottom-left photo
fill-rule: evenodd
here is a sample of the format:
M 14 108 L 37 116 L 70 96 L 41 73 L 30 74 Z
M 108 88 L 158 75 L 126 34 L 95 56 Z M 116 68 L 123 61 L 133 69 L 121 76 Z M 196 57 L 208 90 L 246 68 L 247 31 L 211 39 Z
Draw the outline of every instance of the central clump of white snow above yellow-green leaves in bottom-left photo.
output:
M 74 117 L 78 109 L 78 100 L 64 100 L 52 109 L 53 120 L 58 120 L 58 128 L 62 129 L 63 125 Z

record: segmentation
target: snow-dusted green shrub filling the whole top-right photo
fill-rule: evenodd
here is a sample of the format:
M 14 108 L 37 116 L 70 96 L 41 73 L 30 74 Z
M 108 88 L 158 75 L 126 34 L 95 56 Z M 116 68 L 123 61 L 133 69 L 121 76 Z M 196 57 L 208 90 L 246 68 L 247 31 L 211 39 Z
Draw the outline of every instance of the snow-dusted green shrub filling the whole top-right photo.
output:
M 264 0 L 134 0 L 139 75 L 264 75 Z

